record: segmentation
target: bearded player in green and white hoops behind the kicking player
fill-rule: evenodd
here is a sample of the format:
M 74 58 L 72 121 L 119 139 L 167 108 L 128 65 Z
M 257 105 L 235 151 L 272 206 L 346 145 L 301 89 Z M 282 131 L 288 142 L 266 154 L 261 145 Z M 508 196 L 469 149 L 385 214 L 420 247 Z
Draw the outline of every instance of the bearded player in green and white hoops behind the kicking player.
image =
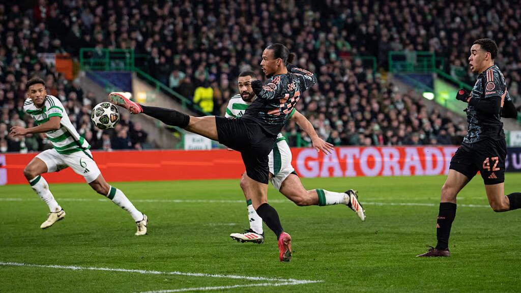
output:
M 257 77 L 253 71 L 243 71 L 238 78 L 239 94 L 231 97 L 226 108 L 225 117 L 237 118 L 244 114 L 246 108 L 255 100 L 255 93 L 252 90 L 251 82 Z M 333 149 L 332 144 L 320 139 L 313 128 L 313 125 L 302 114 L 293 109 L 290 119 L 294 120 L 299 127 L 312 138 L 313 146 L 317 151 L 329 154 Z M 350 189 L 345 192 L 333 192 L 324 189 L 306 190 L 296 175 L 295 169 L 291 166 L 291 150 L 286 139 L 281 133 L 277 136 L 273 150 L 268 156 L 269 179 L 271 184 L 284 194 L 289 200 L 299 206 L 306 205 L 332 205 L 346 204 L 358 217 L 365 221 L 364 209 L 358 202 L 356 191 Z M 246 197 L 248 219 L 250 229 L 242 233 L 232 233 L 230 237 L 241 242 L 264 242 L 264 231 L 262 218 L 255 212 L 250 196 L 250 188 L 241 178 L 241 188 Z

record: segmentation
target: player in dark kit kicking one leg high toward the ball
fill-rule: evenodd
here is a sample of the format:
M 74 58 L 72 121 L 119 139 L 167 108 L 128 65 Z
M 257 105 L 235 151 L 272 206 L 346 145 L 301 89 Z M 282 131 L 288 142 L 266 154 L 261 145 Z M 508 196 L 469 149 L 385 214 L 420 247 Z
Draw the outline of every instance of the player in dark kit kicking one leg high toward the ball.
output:
M 243 116 L 235 119 L 193 117 L 173 109 L 140 105 L 118 93 L 109 94 L 110 101 L 125 107 L 132 114 L 146 114 L 167 125 L 184 128 L 241 152 L 246 167 L 244 179 L 252 188 L 253 207 L 277 236 L 280 261 L 291 260 L 291 236 L 284 232 L 277 211 L 267 202 L 268 155 L 299 101 L 300 94 L 317 82 L 311 72 L 289 66 L 293 58 L 294 55 L 282 44 L 266 47 L 261 67 L 269 80 L 264 85 L 259 80 L 252 82 L 257 99 Z

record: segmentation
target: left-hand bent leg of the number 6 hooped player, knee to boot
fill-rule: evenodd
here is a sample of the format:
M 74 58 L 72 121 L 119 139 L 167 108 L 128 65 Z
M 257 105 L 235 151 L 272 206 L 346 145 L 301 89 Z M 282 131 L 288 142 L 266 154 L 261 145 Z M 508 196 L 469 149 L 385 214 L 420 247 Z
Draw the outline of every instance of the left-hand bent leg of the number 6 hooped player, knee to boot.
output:
M 51 227 L 57 221 L 65 218 L 65 211 L 61 209 L 61 206 L 56 202 L 51 190 L 49 190 L 47 181 L 41 176 L 41 174 L 46 172 L 47 166 L 38 157 L 33 158 L 33 160 L 23 170 L 23 175 L 29 181 L 31 188 L 49 207 L 49 216 L 47 220 L 40 225 L 40 228 L 42 229 Z

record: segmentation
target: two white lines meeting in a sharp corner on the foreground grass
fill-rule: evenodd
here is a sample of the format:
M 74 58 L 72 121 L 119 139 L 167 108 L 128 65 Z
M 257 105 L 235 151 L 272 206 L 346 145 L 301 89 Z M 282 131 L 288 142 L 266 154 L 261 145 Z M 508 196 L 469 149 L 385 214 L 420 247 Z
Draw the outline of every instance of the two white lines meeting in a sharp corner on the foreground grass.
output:
M 191 277 L 206 277 L 206 278 L 227 278 L 227 279 L 241 279 L 241 280 L 253 280 L 253 281 L 265 281 L 267 283 L 258 284 L 245 284 L 245 285 L 228 285 L 218 287 L 198 287 L 198 288 L 180 288 L 180 289 L 165 289 L 156 291 L 146 291 L 146 293 L 166 293 L 166 292 L 184 292 L 184 291 L 209 291 L 209 290 L 222 290 L 222 289 L 233 289 L 240 287 L 265 287 L 265 286 L 284 286 L 284 285 L 303 285 L 312 283 L 322 283 L 322 280 L 297 280 L 297 279 L 284 279 L 284 278 L 269 278 L 269 277 L 255 277 L 255 276 L 241 276 L 241 275 L 221 275 L 221 274 L 206 274 L 206 273 L 183 273 L 178 271 L 163 272 L 163 271 L 151 271 L 151 270 L 131 270 L 128 268 L 110 268 L 110 267 L 95 267 L 95 266 L 76 266 L 76 265 L 55 265 L 55 264 L 31 264 L 31 263 L 18 263 L 18 262 L 3 262 L 0 261 L 2 266 L 28 266 L 28 267 L 40 267 L 40 268 L 59 268 L 63 270 L 73 271 L 108 271 L 108 272 L 122 272 L 122 273 L 138 273 L 138 274 L 152 274 L 152 275 L 176 275 L 176 276 L 191 276 Z M 270 283 L 272 282 L 272 283 Z M 145 292 L 142 292 L 145 293 Z

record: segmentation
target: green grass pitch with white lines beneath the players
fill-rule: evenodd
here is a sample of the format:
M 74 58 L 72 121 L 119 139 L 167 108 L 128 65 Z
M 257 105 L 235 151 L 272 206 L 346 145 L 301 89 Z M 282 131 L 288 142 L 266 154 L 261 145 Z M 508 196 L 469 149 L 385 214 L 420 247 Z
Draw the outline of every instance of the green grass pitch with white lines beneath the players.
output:
M 346 206 L 298 207 L 270 187 L 293 238 L 290 263 L 266 226 L 263 245 L 229 238 L 248 227 L 239 180 L 114 183 L 148 215 L 144 237 L 86 184 L 51 185 L 67 216 L 46 230 L 47 207 L 29 185 L 0 187 L 0 292 L 518 291 L 521 211 L 494 213 L 478 177 L 459 195 L 452 257 L 415 258 L 436 245 L 444 180 L 303 179 L 308 189 L 357 189 L 365 223 Z M 514 191 L 521 174 L 506 176 Z

